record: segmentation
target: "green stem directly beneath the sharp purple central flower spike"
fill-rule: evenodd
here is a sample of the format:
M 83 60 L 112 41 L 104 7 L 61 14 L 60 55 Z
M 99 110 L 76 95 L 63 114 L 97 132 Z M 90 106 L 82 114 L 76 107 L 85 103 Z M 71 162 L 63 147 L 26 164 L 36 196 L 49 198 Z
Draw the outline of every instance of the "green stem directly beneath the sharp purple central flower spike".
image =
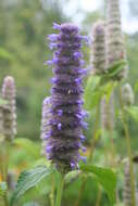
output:
M 60 185 L 58 188 L 55 206 L 61 206 L 61 197 L 62 197 L 63 186 L 64 186 L 64 176 L 62 175 L 61 176 L 61 182 L 60 182 Z

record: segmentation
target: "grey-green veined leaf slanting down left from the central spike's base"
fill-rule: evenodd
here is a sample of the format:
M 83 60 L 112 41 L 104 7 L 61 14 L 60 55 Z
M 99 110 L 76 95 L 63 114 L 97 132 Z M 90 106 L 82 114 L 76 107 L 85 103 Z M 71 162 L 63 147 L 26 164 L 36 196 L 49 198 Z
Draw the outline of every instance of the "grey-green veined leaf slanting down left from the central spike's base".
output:
M 46 167 L 43 165 L 36 168 L 25 170 L 20 175 L 15 191 L 13 192 L 10 206 L 12 206 L 15 201 L 18 199 L 27 190 L 38 184 L 43 178 L 52 172 L 51 167 Z

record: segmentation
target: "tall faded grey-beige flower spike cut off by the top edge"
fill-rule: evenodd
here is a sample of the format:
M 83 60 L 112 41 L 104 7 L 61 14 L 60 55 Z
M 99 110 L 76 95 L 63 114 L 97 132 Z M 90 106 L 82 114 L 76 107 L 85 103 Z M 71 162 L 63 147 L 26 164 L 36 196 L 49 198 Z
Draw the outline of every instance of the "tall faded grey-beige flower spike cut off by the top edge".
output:
M 126 59 L 118 1 L 120 0 L 108 0 L 106 2 L 106 52 L 109 65 Z M 118 74 L 118 79 L 125 78 L 128 69 L 125 67 Z

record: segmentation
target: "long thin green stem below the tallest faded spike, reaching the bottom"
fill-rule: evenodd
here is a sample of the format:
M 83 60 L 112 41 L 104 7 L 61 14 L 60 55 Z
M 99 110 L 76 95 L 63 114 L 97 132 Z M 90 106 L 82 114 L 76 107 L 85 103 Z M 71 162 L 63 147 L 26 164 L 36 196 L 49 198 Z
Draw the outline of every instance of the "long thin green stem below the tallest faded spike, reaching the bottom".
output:
M 127 146 L 127 153 L 129 158 L 129 167 L 130 167 L 130 188 L 131 188 L 131 205 L 136 206 L 136 197 L 135 197 L 135 177 L 134 177 L 134 167 L 133 167 L 133 158 L 131 158 L 131 150 L 130 150 L 130 136 L 129 130 L 125 117 L 125 111 L 122 100 L 122 88 L 120 87 L 120 104 L 122 110 L 122 123 L 124 127 L 125 138 L 126 138 L 126 146 Z

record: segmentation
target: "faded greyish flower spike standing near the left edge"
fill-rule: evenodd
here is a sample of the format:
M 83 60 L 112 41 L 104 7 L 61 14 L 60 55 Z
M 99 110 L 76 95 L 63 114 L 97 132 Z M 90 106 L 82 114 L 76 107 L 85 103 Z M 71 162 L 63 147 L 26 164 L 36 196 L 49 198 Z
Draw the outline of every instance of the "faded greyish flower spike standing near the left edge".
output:
M 2 99 L 7 101 L 2 106 L 3 134 L 7 140 L 12 140 L 16 134 L 15 83 L 12 77 L 5 77 L 3 80 Z

